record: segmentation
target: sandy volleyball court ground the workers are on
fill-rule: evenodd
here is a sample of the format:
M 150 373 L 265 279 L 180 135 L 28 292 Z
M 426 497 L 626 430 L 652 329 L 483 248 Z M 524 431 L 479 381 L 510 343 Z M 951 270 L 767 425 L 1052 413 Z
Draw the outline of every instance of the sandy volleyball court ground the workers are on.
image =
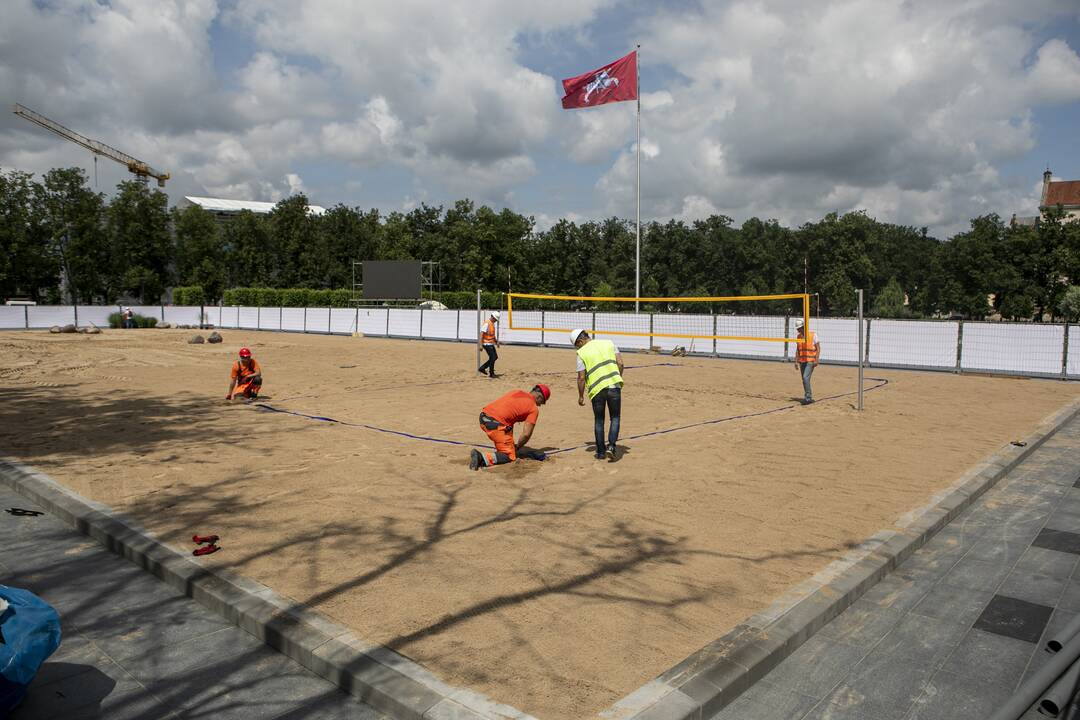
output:
M 570 351 L 504 348 L 488 380 L 464 344 L 190 334 L 0 334 L 0 453 L 184 551 L 218 533 L 208 565 L 545 720 L 610 705 L 1080 393 L 875 369 L 858 413 L 794 406 L 792 365 L 626 355 L 624 437 L 791 409 L 474 473 L 460 446 L 226 403 L 229 364 L 251 345 L 281 408 L 472 443 L 483 405 L 543 380 L 534 446 L 565 448 L 592 434 Z

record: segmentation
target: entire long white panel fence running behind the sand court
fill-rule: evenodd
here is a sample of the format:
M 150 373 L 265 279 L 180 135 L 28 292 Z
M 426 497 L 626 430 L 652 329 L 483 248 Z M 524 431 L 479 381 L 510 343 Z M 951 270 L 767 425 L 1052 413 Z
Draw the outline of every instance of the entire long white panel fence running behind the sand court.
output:
M 238 308 L 133 307 L 136 313 L 172 325 L 219 328 L 363 335 L 422 340 L 475 342 L 475 310 L 406 310 L 399 308 Z M 0 329 L 44 329 L 54 325 L 108 325 L 117 305 L 0 305 Z M 486 317 L 488 311 L 483 311 Z M 568 328 L 595 328 L 623 350 L 684 345 L 693 354 L 755 359 L 789 359 L 794 348 L 783 342 L 693 340 L 661 337 L 665 332 L 727 335 L 768 334 L 783 337 L 794 317 L 686 315 L 671 313 L 514 313 L 515 324 L 530 330 L 500 329 L 513 344 L 569 347 Z M 867 320 L 859 347 L 858 321 L 811 320 L 822 339 L 822 362 L 855 364 L 860 352 L 870 367 L 920 368 L 955 372 L 996 372 L 1030 377 L 1080 378 L 1080 326 L 1053 323 Z M 643 332 L 640 337 L 605 335 L 605 328 Z M 647 335 L 649 332 L 658 335 Z

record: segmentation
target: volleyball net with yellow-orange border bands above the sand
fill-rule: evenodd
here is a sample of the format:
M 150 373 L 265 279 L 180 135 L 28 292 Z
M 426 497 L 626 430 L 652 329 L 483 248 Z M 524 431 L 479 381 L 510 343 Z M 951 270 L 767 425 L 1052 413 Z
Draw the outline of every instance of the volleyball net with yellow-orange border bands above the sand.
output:
M 796 342 L 798 322 L 810 327 L 810 296 L 608 298 L 507 295 L 510 330 L 572 330 L 593 335 L 686 340 Z

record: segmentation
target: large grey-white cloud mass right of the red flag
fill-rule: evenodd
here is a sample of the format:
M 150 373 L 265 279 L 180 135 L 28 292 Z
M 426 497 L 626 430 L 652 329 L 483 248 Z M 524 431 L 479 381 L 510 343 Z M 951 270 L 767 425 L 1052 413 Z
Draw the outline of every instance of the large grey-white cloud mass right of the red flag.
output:
M 994 168 L 1034 148 L 1034 106 L 1080 100 L 1080 57 L 1038 45 L 1011 4 L 704 2 L 650 19 L 647 57 L 681 80 L 647 120 L 649 213 L 865 208 L 950 231 L 1034 207 Z M 597 185 L 609 212 L 629 212 L 632 184 L 622 155 Z

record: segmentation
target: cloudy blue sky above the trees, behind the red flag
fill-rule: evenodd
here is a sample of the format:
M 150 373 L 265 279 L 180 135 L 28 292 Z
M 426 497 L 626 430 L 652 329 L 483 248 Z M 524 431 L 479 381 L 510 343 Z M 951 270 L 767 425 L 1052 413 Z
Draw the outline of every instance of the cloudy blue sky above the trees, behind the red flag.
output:
M 1078 0 L 4 0 L 0 98 L 184 195 L 635 213 L 635 104 L 561 80 L 640 44 L 642 216 L 929 228 L 1080 179 Z M 0 113 L 0 169 L 94 163 Z M 97 188 L 127 179 L 108 160 Z

